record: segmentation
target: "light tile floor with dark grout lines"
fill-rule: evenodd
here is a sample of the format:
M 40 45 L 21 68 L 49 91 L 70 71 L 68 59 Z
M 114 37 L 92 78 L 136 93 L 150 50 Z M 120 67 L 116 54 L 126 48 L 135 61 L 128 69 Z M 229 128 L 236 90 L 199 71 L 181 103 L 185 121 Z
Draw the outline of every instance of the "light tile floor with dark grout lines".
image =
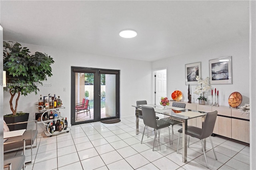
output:
M 178 132 L 174 126 L 174 142 L 168 139 L 168 128 L 161 130 L 160 146 L 152 151 L 154 131 L 149 128 L 149 137 L 144 136 L 140 120 L 140 134 L 135 134 L 135 117 L 122 118 L 120 123 L 100 122 L 75 125 L 70 132 L 47 137 L 38 134 L 38 147 L 33 148 L 33 162 L 26 170 L 200 170 L 207 169 L 200 141 L 190 138 L 188 161 L 182 162 L 182 154 L 176 153 Z M 249 170 L 250 146 L 242 142 L 218 136 L 212 137 L 218 160 L 215 160 L 210 140 L 207 139 L 206 156 L 211 170 Z M 181 145 L 179 149 L 181 149 Z M 181 151 L 181 150 L 180 150 Z M 21 151 L 7 154 L 14 156 Z M 30 160 L 26 150 L 26 161 Z

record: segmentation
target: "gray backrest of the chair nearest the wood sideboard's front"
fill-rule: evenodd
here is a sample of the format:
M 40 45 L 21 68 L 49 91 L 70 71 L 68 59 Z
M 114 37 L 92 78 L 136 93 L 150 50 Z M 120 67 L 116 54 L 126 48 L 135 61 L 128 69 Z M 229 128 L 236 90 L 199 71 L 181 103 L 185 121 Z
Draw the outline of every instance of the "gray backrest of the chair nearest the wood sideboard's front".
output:
M 199 136 L 199 139 L 208 138 L 212 134 L 217 115 L 218 111 L 209 112 L 206 114 L 206 118 L 204 120 L 204 125 L 202 128 L 202 134 L 201 136 Z

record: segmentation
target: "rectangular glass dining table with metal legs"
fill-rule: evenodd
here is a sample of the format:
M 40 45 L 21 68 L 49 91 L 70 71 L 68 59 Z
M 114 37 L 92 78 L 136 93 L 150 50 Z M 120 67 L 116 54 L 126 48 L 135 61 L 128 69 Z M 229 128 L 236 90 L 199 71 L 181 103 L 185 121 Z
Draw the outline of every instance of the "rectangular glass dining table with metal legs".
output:
M 139 134 L 139 111 L 141 111 L 141 106 L 142 105 L 132 106 L 136 108 L 136 134 Z M 202 122 L 204 122 L 204 118 L 207 113 L 172 106 L 163 107 L 161 105 L 154 104 L 144 106 L 153 107 L 156 113 L 170 116 L 172 119 L 182 122 L 182 162 L 185 163 L 187 161 L 187 135 L 185 132 L 188 127 L 188 120 L 196 117 L 202 117 Z M 206 139 L 204 139 L 204 150 L 206 150 Z

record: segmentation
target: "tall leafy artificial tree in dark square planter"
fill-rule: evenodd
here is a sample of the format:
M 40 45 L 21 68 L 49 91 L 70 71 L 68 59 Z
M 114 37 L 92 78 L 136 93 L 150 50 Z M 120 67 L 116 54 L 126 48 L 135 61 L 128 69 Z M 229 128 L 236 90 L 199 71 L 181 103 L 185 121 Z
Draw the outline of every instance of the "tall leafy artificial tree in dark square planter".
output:
M 3 68 L 6 71 L 6 87 L 4 87 L 4 90 L 10 93 L 9 103 L 12 111 L 12 114 L 4 115 L 4 121 L 7 124 L 28 121 L 29 113 L 17 113 L 20 95 L 26 96 L 32 92 L 37 94 L 37 91 L 39 91 L 38 86 L 42 85 L 42 81 L 46 81 L 47 76 L 52 76 L 50 65 L 54 61 L 47 54 L 40 52 L 31 54 L 27 47 L 22 47 L 18 42 L 3 42 L 3 45 Z M 16 94 L 17 98 L 14 107 L 12 101 Z M 25 118 L 19 120 L 20 116 Z M 24 128 L 20 127 L 20 125 L 15 125 L 15 128 L 14 125 L 9 126 L 9 129 L 18 130 Z

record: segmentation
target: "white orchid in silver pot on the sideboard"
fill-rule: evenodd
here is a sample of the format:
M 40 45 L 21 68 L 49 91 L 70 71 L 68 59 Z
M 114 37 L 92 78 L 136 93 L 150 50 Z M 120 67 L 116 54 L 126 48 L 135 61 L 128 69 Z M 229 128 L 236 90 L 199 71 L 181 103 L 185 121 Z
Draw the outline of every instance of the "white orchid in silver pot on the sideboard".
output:
M 204 93 L 212 89 L 212 86 L 210 85 L 210 78 L 206 77 L 204 80 L 202 80 L 201 77 L 196 76 L 196 80 L 199 85 L 196 86 L 194 94 L 200 95 L 200 97 L 197 98 L 199 100 L 199 104 L 205 105 L 207 98 L 204 96 Z

